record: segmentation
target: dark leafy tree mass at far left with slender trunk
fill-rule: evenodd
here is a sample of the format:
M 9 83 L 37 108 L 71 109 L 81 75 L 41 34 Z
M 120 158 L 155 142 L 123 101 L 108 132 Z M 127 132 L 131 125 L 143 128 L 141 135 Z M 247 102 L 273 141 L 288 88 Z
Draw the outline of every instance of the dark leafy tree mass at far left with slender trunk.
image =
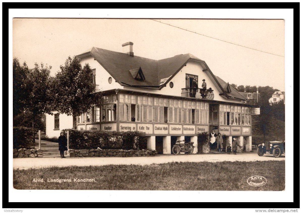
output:
M 50 69 L 51 66 L 40 66 L 28 69 L 26 63 L 20 66 L 17 58 L 13 60 L 14 77 L 14 111 L 31 115 L 33 142 L 35 138 L 35 120 L 42 114 L 51 114 Z M 15 114 L 16 116 L 16 114 Z

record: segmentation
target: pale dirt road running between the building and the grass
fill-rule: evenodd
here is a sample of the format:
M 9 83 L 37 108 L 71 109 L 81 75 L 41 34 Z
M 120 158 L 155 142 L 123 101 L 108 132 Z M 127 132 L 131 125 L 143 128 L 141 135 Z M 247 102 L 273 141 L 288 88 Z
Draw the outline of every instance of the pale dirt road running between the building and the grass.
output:
M 203 155 L 157 155 L 155 157 L 129 157 L 129 158 L 106 158 L 106 157 L 92 157 L 92 158 L 14 158 L 14 169 L 28 169 L 28 168 L 43 168 L 51 166 L 102 166 L 108 164 L 160 164 L 168 162 L 200 162 L 200 161 L 284 161 L 285 156 L 274 158 L 273 155 L 258 156 L 257 153 L 238 153 L 237 155 L 222 154 L 203 154 Z

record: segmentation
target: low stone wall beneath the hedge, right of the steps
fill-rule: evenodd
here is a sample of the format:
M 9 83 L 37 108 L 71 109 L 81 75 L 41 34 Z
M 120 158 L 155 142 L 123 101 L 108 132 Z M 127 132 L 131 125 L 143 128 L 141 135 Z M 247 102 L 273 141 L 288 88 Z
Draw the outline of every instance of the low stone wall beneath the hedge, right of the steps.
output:
M 75 157 L 142 157 L 155 156 L 158 154 L 152 149 L 123 150 L 123 149 L 69 149 L 67 155 Z

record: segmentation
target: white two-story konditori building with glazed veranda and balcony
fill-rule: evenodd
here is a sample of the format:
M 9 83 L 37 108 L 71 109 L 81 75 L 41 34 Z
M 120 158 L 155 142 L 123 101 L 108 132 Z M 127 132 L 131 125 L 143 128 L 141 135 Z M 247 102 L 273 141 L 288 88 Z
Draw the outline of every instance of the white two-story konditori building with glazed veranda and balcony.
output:
M 189 53 L 153 60 L 134 55 L 132 42 L 122 46 L 124 52 L 92 47 L 77 55 L 92 67 L 93 82 L 104 94 L 102 103 L 77 117 L 78 130 L 143 131 L 148 148 L 163 154 L 178 139 L 197 146 L 198 133 L 214 130 L 251 150 L 254 105 L 244 104 L 246 98 L 205 61 Z M 47 115 L 47 135 L 59 136 L 54 129 L 62 129 L 60 116 Z M 68 122 L 71 128 L 72 118 Z

